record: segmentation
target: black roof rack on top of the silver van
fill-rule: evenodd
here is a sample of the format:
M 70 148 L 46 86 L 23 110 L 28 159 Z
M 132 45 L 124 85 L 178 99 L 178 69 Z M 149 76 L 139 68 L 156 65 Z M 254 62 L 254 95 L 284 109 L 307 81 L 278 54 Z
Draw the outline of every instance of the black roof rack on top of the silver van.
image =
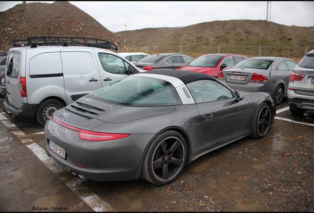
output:
M 72 36 L 51 36 L 51 37 L 43 36 L 43 37 L 27 37 L 26 39 L 13 40 L 13 46 L 37 47 L 43 45 L 62 45 L 62 46 L 84 45 L 88 47 L 114 49 L 119 51 L 119 48 L 116 44 L 100 38 L 72 37 Z

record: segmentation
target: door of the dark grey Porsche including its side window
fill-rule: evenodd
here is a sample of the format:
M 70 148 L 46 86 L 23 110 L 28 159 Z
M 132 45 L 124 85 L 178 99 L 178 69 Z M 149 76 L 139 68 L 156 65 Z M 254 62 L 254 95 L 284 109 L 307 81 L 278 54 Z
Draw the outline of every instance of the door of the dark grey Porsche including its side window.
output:
M 209 142 L 223 142 L 248 130 L 250 108 L 246 100 L 235 102 L 233 92 L 213 80 L 195 81 L 187 87 L 195 99 Z

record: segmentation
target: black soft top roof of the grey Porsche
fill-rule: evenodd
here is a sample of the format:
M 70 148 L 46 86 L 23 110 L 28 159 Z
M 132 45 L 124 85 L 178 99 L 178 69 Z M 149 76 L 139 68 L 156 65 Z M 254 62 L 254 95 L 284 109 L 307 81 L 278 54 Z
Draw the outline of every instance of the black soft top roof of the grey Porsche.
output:
M 145 71 L 142 72 L 145 74 L 162 74 L 168 75 L 171 77 L 179 78 L 184 84 L 196 81 L 196 80 L 215 80 L 217 79 L 211 75 L 195 72 L 195 71 L 184 71 L 184 70 L 170 70 L 170 69 L 162 69 L 156 71 Z

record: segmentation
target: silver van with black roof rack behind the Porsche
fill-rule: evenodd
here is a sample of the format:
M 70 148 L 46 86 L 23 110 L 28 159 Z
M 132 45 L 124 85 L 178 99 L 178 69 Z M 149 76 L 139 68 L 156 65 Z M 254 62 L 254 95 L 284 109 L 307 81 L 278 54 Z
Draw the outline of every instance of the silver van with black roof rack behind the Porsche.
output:
M 108 49 L 118 51 L 118 46 L 85 37 L 13 40 L 7 54 L 3 110 L 11 117 L 37 118 L 44 125 L 59 108 L 142 71 Z

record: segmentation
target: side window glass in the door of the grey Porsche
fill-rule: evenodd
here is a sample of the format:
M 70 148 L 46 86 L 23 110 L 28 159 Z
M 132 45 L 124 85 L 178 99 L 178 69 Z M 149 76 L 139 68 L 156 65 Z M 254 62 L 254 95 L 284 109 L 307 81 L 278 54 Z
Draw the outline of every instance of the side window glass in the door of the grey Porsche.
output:
M 187 84 L 196 104 L 233 98 L 233 93 L 214 80 L 198 80 Z

